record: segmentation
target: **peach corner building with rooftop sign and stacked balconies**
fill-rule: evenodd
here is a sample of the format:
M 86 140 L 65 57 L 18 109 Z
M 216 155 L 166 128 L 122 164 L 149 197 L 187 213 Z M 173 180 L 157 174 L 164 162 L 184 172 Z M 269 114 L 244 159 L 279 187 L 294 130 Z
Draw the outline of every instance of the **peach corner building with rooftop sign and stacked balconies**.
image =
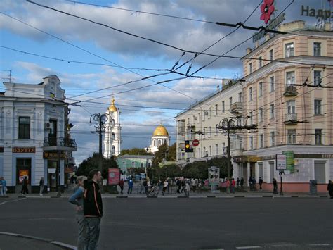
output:
M 234 161 L 244 180 L 263 177 L 271 189 L 273 178 L 280 180 L 275 155 L 286 154 L 285 191 L 308 192 L 309 180 L 317 180 L 325 192 L 333 178 L 331 24 L 309 28 L 296 21 L 279 30 L 287 34 L 266 35 L 244 57 L 243 113 L 258 130 L 246 134 L 246 156 Z

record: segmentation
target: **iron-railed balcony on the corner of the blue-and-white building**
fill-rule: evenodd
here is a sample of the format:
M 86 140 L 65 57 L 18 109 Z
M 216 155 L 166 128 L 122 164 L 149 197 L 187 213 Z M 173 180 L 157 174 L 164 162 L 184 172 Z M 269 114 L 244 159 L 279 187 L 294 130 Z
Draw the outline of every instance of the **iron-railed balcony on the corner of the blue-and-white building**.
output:
M 46 137 L 44 139 L 45 151 L 77 151 L 75 139 L 63 137 Z

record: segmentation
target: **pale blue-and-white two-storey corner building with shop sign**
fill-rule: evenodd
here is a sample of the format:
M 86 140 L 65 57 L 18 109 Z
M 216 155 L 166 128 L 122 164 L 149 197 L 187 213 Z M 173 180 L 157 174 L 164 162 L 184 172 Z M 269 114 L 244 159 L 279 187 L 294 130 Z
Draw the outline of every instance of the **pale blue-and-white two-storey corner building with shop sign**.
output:
M 0 176 L 8 192 L 20 192 L 27 176 L 32 192 L 39 192 L 44 177 L 48 190 L 66 183 L 68 165 L 74 165 L 65 90 L 55 75 L 37 85 L 4 82 L 0 92 Z

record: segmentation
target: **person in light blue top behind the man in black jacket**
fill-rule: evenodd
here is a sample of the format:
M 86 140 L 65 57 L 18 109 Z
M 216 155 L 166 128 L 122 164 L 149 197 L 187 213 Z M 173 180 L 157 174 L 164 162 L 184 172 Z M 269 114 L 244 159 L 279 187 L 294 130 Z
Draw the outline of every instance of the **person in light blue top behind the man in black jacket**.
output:
M 77 188 L 70 196 L 68 201 L 71 204 L 77 205 L 77 213 L 75 215 L 75 220 L 77 220 L 77 226 L 79 227 L 79 233 L 77 237 L 77 249 L 84 250 L 85 240 L 86 240 L 86 220 L 84 218 L 84 181 L 86 180 L 86 176 L 77 177 Z

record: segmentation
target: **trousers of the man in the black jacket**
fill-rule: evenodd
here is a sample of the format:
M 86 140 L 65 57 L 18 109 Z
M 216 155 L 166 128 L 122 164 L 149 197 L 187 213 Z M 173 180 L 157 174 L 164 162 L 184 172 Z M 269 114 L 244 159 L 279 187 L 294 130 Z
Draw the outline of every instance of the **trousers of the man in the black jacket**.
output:
M 86 249 L 96 250 L 98 238 L 100 237 L 100 218 L 86 217 Z

